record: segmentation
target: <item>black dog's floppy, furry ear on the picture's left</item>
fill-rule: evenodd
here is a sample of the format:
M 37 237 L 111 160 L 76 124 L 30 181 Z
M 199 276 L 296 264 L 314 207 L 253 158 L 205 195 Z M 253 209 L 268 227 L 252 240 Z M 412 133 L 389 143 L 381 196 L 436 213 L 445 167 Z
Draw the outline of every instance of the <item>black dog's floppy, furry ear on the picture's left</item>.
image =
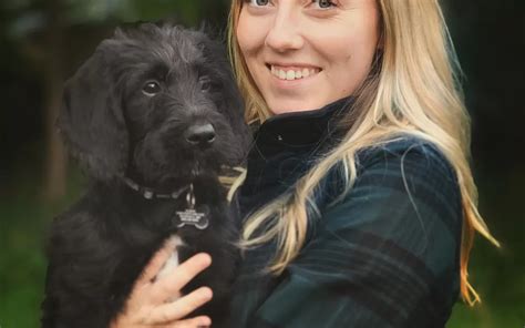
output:
M 56 125 L 73 157 L 99 181 L 125 172 L 128 136 L 113 76 L 115 43 L 105 41 L 66 81 Z

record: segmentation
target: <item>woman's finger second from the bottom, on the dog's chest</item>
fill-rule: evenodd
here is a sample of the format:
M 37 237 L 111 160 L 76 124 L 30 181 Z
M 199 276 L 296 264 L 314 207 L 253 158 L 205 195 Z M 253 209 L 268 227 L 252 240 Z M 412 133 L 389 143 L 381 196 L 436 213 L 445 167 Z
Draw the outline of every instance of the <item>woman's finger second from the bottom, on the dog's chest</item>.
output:
M 209 289 L 208 287 L 198 288 L 197 290 L 194 290 L 193 293 L 178 298 L 174 303 L 168 303 L 166 305 L 155 308 L 150 314 L 148 320 L 144 324 L 158 325 L 173 320 L 178 320 L 181 318 L 186 317 L 195 309 L 203 306 L 205 303 L 209 301 L 212 297 L 212 289 Z

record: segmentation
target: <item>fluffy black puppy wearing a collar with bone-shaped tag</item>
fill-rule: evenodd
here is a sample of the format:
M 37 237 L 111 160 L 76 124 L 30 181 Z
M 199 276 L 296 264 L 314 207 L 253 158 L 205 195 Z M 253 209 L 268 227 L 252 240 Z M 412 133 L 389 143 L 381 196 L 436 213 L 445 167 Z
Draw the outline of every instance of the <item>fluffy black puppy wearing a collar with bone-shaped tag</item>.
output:
M 227 326 L 237 228 L 218 176 L 249 140 L 228 68 L 204 32 L 144 23 L 117 29 L 66 82 L 58 123 L 91 183 L 51 229 L 43 327 L 109 327 L 173 236 L 178 262 L 213 257 L 183 289 L 214 290 L 192 316 Z

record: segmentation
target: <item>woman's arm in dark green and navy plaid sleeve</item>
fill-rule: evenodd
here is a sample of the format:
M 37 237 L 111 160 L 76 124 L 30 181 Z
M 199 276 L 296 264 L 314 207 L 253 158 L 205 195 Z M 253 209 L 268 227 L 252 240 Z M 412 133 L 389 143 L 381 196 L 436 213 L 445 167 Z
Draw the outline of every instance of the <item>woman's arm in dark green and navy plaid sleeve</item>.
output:
M 421 143 L 394 142 L 361 164 L 249 327 L 444 326 L 460 281 L 454 173 Z

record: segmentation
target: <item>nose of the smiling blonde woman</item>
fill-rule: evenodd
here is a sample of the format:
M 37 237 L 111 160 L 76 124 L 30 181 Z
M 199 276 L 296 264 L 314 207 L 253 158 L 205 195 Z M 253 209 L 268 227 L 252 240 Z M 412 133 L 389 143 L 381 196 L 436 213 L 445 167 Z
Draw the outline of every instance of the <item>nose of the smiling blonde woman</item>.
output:
M 292 8 L 281 6 L 277 10 L 265 44 L 277 52 L 297 50 L 302 47 L 299 18 L 294 13 Z

